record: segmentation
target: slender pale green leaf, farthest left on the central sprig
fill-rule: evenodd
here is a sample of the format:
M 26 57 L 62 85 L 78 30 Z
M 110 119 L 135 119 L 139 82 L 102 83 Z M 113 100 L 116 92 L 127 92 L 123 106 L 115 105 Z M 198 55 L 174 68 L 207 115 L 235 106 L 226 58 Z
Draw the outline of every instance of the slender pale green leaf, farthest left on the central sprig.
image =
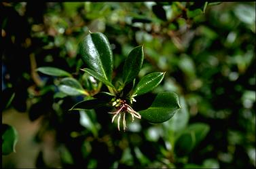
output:
M 59 77 L 72 76 L 67 71 L 63 71 L 62 69 L 58 69 L 56 67 L 39 67 L 37 68 L 37 71 L 44 73 L 45 75 L 51 75 L 51 76 L 59 76 Z

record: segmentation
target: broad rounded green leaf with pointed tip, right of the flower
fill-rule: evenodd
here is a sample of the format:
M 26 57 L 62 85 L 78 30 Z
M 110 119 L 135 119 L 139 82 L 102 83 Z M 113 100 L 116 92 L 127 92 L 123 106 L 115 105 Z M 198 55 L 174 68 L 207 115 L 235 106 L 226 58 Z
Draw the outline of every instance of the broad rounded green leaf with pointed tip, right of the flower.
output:
M 170 119 L 180 109 L 178 95 L 174 92 L 159 93 L 151 107 L 139 111 L 141 117 L 151 123 L 162 123 Z

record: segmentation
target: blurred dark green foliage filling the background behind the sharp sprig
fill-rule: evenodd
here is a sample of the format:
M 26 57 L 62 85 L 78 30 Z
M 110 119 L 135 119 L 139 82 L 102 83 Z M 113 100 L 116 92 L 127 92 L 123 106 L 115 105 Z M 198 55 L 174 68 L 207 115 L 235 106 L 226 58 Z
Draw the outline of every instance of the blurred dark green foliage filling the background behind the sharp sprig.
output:
M 21 152 L 2 155 L 3 168 L 255 168 L 255 2 L 5 2 L 0 7 L 2 122 L 18 130 L 17 147 L 27 142 Z M 138 80 L 166 71 L 160 86 L 134 107 L 157 92 L 172 91 L 182 109 L 163 124 L 129 123 L 126 132 L 111 124 L 106 109 L 68 112 L 84 96 L 63 94 L 56 87 L 59 77 L 35 69 L 63 69 L 93 90 L 97 82 L 79 71 L 84 64 L 77 54 L 89 30 L 109 39 L 115 72 L 130 50 L 143 44 Z M 25 119 L 20 113 L 8 117 L 14 110 L 33 126 L 16 125 L 14 120 Z M 22 138 L 20 130 L 33 130 L 31 139 Z

